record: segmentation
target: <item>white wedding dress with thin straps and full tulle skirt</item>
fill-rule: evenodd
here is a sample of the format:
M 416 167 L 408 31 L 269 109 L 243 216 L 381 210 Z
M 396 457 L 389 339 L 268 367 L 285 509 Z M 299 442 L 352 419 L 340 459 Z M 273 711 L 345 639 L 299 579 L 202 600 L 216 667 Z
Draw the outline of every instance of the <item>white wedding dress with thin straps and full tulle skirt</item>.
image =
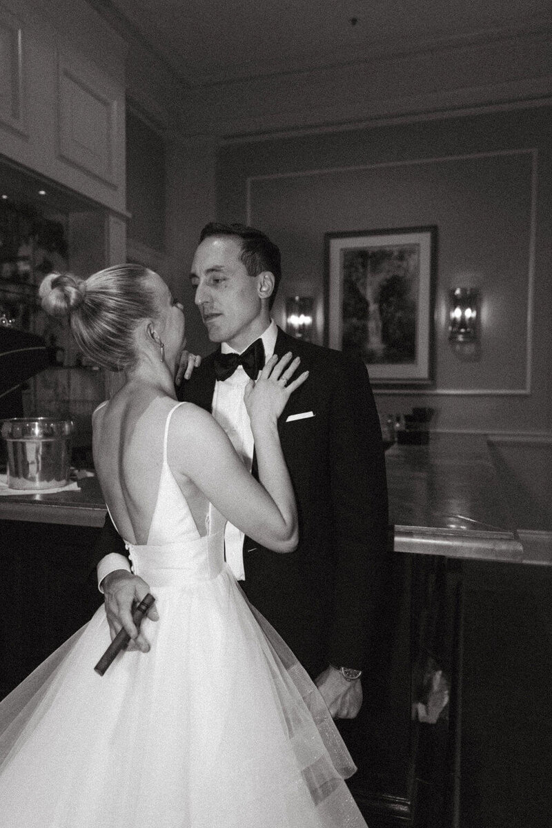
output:
M 0 826 L 366 828 L 319 692 L 223 560 L 224 518 L 198 490 L 197 526 L 170 471 L 176 407 L 148 542 L 127 544 L 151 651 L 98 676 L 102 607 L 2 701 Z

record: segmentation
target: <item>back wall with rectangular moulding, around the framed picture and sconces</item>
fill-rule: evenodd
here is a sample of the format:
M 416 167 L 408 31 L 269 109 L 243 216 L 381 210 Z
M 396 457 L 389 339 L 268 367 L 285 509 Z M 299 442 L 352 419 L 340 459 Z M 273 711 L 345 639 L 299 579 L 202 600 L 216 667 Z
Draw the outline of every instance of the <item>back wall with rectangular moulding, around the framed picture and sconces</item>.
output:
M 434 386 L 377 392 L 386 412 L 436 409 L 439 431 L 552 431 L 550 108 L 432 118 L 353 131 L 228 142 L 218 217 L 249 221 L 281 246 L 283 298 L 314 296 L 324 330 L 324 233 L 436 224 Z M 482 291 L 475 359 L 447 331 L 449 286 Z

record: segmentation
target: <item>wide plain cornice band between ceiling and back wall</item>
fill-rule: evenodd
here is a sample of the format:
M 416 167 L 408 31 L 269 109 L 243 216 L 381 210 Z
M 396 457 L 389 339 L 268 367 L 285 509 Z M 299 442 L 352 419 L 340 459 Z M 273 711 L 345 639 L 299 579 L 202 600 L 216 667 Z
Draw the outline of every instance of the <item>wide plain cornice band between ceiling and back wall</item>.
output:
M 225 139 L 552 94 L 549 31 L 186 90 L 185 128 Z M 252 108 L 251 101 L 256 101 Z

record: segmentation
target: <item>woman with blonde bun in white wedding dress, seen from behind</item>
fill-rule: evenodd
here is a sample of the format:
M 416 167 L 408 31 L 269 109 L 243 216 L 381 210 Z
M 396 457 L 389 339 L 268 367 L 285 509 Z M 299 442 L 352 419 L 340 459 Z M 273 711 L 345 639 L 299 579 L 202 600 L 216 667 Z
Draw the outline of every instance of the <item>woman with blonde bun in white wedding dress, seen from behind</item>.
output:
M 103 676 L 94 665 L 117 628 L 100 608 L 2 701 L 0 825 L 365 828 L 322 697 L 224 562 L 227 519 L 293 554 L 276 422 L 307 372 L 286 354 L 247 384 L 257 482 L 213 417 L 175 401 L 185 320 L 161 277 L 50 274 L 40 295 L 84 354 L 125 371 L 94 412 L 94 464 L 155 604 Z

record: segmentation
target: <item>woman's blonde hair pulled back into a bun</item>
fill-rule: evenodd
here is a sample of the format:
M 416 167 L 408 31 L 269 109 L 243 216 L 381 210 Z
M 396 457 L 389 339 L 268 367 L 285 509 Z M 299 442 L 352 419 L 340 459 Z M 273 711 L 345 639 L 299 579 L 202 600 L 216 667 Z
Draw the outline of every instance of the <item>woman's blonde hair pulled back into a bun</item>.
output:
M 137 264 L 114 265 L 79 279 L 50 273 L 41 282 L 41 304 L 50 316 L 68 316 L 71 333 L 89 359 L 110 371 L 132 368 L 137 360 L 134 331 L 161 309 L 151 289 L 152 271 Z

